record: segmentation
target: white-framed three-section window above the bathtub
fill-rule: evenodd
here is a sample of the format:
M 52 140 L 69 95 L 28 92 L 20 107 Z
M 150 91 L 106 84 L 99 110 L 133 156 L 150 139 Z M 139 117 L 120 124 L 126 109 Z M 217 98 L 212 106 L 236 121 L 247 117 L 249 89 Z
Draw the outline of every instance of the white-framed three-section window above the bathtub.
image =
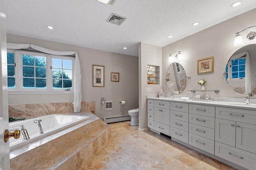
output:
M 7 69 L 9 91 L 72 90 L 73 57 L 8 50 Z

